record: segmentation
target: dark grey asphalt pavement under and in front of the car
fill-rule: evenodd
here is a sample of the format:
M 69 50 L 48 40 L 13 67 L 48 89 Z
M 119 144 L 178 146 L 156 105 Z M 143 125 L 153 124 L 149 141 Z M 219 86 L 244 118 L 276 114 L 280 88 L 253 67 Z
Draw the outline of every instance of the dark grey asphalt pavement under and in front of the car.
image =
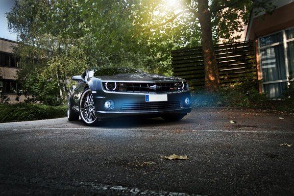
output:
M 294 144 L 294 117 L 259 110 L 1 123 L 0 195 L 293 196 L 294 146 L 281 144 Z M 172 154 L 189 159 L 161 158 Z

